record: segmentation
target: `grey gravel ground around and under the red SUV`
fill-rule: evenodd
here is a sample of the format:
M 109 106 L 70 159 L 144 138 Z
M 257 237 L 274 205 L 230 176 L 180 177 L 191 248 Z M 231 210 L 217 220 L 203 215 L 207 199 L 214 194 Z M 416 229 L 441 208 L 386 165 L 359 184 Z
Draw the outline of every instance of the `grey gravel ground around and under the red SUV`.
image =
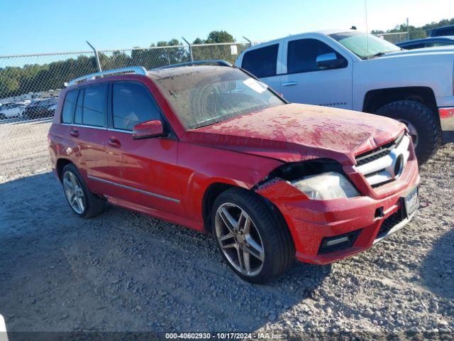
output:
M 254 286 L 223 264 L 211 235 L 118 207 L 92 220 L 72 214 L 49 173 L 47 126 L 23 128 L 20 158 L 8 149 L 0 156 L 7 330 L 454 337 L 453 143 L 422 167 L 421 207 L 401 232 L 353 258 L 295 263 Z

